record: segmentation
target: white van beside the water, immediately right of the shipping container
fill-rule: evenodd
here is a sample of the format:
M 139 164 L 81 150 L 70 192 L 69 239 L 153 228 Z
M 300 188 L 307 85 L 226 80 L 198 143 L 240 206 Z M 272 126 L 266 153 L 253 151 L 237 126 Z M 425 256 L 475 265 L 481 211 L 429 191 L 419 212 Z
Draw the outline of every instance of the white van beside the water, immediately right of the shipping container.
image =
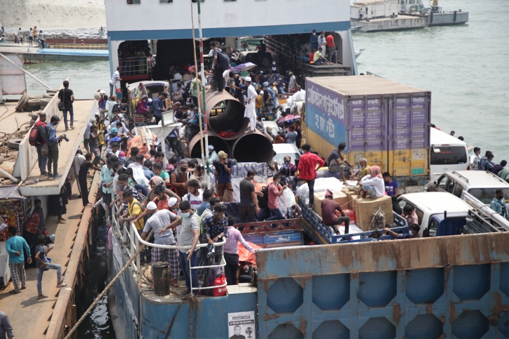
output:
M 430 128 L 430 182 L 449 171 L 470 170 L 467 144 L 454 136 Z

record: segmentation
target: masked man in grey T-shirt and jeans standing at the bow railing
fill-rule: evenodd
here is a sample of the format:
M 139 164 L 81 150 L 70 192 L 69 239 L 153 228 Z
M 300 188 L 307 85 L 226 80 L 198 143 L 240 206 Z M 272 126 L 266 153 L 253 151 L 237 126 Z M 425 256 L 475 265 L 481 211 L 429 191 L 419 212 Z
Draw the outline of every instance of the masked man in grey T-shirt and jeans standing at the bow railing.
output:
M 189 293 L 198 294 L 198 290 L 192 291 L 191 288 L 198 287 L 198 274 L 197 270 L 191 271 L 189 274 L 190 265 L 191 267 L 196 266 L 196 246 L 199 244 L 199 216 L 191 208 L 189 201 L 182 201 L 180 203 L 180 218 L 171 222 L 170 225 L 164 227 L 159 231 L 159 234 L 164 234 L 168 229 L 174 229 L 180 226 L 180 232 L 178 234 L 178 246 L 185 246 L 185 249 L 179 249 L 178 261 L 180 268 L 183 270 L 186 291 L 183 291 L 182 295 Z M 187 249 L 189 248 L 189 249 Z M 192 286 L 191 286 L 192 284 Z

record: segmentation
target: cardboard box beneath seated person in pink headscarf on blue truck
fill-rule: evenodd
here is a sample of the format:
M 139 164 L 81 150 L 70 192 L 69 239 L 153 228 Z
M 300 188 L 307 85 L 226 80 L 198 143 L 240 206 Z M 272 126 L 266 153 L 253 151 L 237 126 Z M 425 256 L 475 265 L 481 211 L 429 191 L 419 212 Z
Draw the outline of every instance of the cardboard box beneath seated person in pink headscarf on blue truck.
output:
M 356 225 L 364 232 L 369 231 L 371 224 L 371 214 L 380 207 L 385 213 L 385 224 L 392 224 L 394 216 L 392 215 L 392 199 L 388 196 L 383 198 L 355 198 L 352 201 L 355 212 Z

